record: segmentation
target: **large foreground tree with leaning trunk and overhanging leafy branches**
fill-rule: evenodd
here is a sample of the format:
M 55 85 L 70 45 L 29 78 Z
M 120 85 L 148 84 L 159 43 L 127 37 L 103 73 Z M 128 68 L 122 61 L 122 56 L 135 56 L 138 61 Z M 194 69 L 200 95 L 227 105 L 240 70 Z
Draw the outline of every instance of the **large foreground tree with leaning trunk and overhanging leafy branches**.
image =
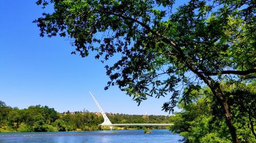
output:
M 167 96 L 163 110 L 174 111 L 188 93 L 206 84 L 223 110 L 233 142 L 239 142 L 221 81 L 255 77 L 255 1 L 190 0 L 173 10 L 174 0 L 39 0 L 54 6 L 34 20 L 40 36 L 69 37 L 82 57 L 97 51 L 110 77 L 140 104 L 148 96 Z M 52 5 L 51 5 L 52 6 Z M 191 90 L 188 90 L 191 91 Z

